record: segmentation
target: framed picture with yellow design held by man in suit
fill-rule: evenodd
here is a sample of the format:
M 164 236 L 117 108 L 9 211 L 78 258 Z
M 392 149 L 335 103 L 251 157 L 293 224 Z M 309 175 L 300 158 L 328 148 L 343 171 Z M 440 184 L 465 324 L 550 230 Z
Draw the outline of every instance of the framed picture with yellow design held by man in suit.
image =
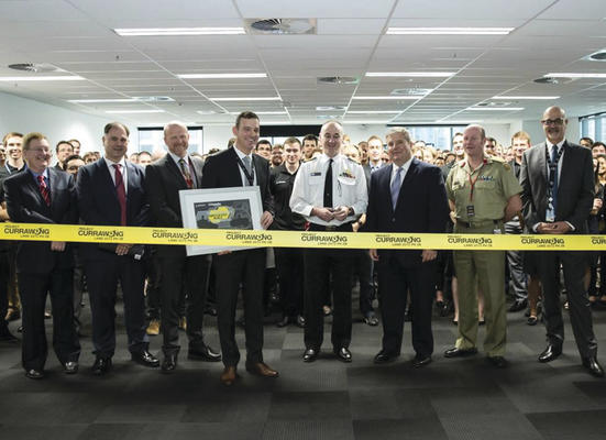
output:
M 263 230 L 263 204 L 258 186 L 183 189 L 179 191 L 179 200 L 184 228 Z M 242 249 L 249 248 L 186 246 L 188 256 Z

